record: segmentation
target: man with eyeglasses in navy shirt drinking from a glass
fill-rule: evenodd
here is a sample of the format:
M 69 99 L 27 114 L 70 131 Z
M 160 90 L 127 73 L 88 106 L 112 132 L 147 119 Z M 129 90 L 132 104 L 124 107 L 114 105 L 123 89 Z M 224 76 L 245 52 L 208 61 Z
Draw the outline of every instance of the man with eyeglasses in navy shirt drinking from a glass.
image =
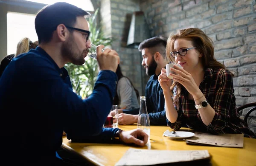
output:
M 0 78 L 3 163 L 65 165 L 65 160 L 56 153 L 61 147 L 63 130 L 68 139 L 78 142 L 139 146 L 147 142 L 148 135 L 138 129 L 102 129 L 116 92 L 116 51 L 107 48 L 102 52 L 104 46 L 99 45 L 99 75 L 93 93 L 85 100 L 73 93 L 64 65 L 84 64 L 90 49 L 85 19 L 89 15 L 62 2 L 38 12 L 35 30 L 39 46 L 13 59 Z

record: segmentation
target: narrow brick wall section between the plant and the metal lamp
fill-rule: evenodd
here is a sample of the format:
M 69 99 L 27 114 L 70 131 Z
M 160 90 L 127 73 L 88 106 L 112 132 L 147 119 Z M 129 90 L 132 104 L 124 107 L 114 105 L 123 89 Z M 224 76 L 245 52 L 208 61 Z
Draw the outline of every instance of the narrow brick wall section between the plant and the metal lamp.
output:
M 103 31 L 107 37 L 115 39 L 112 48 L 120 56 L 122 73 L 131 79 L 131 82 L 139 90 L 140 96 L 143 96 L 148 77 L 145 76 L 145 70 L 142 70 L 141 53 L 138 49 L 126 46 L 131 15 L 134 11 L 140 11 L 140 1 L 101 0 L 100 2 Z

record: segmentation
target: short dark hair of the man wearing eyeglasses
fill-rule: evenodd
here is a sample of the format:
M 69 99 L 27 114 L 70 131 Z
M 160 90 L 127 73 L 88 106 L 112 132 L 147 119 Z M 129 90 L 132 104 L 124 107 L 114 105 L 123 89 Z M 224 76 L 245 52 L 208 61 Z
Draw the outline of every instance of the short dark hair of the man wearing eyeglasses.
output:
M 76 24 L 76 17 L 79 16 L 90 16 L 90 13 L 64 2 L 44 6 L 35 17 L 35 31 L 39 44 L 49 42 L 58 25 L 73 27 Z

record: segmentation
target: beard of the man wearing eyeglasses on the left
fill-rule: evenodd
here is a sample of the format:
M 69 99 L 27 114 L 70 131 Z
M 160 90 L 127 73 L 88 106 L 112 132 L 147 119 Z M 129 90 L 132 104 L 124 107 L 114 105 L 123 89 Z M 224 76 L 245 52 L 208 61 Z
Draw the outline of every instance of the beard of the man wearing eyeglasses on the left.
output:
M 74 41 L 73 34 L 70 33 L 67 42 L 64 42 L 61 47 L 61 55 L 74 65 L 83 65 L 85 62 L 84 54 L 87 53 L 87 50 L 88 49 L 84 49 L 84 51 L 79 54 L 79 49 Z

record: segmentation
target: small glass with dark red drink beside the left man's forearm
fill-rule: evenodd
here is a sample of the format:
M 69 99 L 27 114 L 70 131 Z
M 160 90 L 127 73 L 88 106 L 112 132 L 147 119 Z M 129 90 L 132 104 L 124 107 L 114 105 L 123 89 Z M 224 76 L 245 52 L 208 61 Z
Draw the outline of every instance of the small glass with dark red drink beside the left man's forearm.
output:
M 117 115 L 118 115 L 117 105 L 112 105 L 110 113 L 108 114 L 108 117 L 105 120 L 104 127 L 117 128 L 118 126 Z

